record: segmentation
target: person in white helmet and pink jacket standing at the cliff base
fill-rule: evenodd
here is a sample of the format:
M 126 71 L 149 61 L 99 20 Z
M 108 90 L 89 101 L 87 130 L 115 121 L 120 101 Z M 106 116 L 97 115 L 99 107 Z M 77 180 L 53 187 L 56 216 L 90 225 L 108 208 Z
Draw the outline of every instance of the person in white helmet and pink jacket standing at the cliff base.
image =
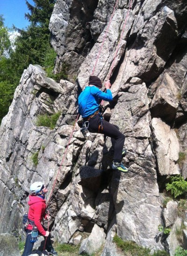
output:
M 26 242 L 22 256 L 29 256 L 32 253 L 34 242 L 37 240 L 37 235 L 42 235 L 46 239 L 46 249 L 49 255 L 57 256 L 58 253 L 52 247 L 50 240 L 50 232 L 41 224 L 43 218 L 50 219 L 45 213 L 46 201 L 45 194 L 48 189 L 42 182 L 36 181 L 30 186 L 29 195 L 29 213 L 25 224 Z

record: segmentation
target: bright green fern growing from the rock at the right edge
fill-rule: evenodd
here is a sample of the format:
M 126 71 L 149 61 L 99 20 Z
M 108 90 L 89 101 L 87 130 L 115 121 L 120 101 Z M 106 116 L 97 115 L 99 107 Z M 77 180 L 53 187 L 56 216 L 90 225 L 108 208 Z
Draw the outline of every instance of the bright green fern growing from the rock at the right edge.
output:
M 166 190 L 171 191 L 174 198 L 187 193 L 187 181 L 181 175 L 170 177 L 170 183 L 166 184 Z

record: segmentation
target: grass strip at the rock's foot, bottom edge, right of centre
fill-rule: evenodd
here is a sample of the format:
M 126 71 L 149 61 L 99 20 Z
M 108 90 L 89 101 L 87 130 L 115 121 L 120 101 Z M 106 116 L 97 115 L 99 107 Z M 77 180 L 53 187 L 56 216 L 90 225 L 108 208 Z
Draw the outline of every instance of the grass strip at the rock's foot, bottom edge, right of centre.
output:
M 114 236 L 113 241 L 122 250 L 124 256 L 169 256 L 167 252 L 161 250 L 155 251 L 152 255 L 149 248 L 139 246 L 133 241 L 123 241 L 117 235 Z

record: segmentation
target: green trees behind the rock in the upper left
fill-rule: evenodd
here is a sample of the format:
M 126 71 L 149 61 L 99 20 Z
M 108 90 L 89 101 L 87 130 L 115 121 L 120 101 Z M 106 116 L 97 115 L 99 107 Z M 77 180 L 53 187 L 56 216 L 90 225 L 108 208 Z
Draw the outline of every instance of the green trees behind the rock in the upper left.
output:
M 4 19 L 0 15 L 0 122 L 8 112 L 23 70 L 29 64 L 54 66 L 55 53 L 50 46 L 48 27 L 56 0 L 33 1 L 34 6 L 26 1 L 30 14 L 25 17 L 29 19 L 30 25 L 23 30 L 13 27 L 19 32 L 14 42 L 14 50 L 10 48 L 7 28 L 4 27 Z

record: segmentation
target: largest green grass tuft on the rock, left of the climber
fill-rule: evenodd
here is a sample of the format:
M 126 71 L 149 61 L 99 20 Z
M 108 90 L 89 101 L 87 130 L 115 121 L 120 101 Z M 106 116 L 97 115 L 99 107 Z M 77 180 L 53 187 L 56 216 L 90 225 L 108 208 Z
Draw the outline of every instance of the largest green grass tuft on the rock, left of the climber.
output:
M 46 127 L 50 127 L 50 129 L 52 130 L 55 128 L 57 124 L 57 120 L 60 115 L 61 115 L 61 112 L 57 112 L 51 116 L 47 114 L 38 115 L 36 118 L 36 126 L 46 126 Z

